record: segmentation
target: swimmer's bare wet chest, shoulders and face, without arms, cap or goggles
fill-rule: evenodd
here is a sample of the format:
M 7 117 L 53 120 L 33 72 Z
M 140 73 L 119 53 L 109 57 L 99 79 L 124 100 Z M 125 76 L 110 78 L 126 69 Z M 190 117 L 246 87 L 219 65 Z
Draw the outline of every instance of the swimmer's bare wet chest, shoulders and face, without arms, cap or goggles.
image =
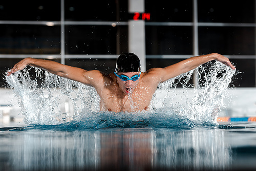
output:
M 150 105 L 153 94 L 156 91 L 157 84 L 147 84 L 145 82 L 146 74 L 141 73 L 138 80 L 122 81 L 119 77 L 111 73 L 105 78 L 109 79 L 109 84 L 97 91 L 101 97 L 100 110 L 113 112 L 136 112 L 147 110 Z M 139 72 L 118 73 L 118 75 L 125 75 L 131 78 Z

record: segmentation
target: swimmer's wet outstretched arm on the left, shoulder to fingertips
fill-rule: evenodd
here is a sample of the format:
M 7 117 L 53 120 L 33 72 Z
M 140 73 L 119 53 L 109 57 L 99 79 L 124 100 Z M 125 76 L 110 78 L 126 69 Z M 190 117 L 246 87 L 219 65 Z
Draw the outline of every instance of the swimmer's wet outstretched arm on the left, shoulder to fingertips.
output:
M 81 68 L 62 65 L 61 63 L 51 60 L 25 58 L 16 63 L 14 67 L 7 73 L 7 76 L 19 70 L 23 70 L 26 66 L 34 66 L 37 68 L 41 68 L 47 70 L 52 74 L 56 74 L 61 77 L 79 81 L 91 86 L 94 86 L 94 82 L 96 82 L 97 78 L 100 78 L 100 76 L 102 75 L 97 70 L 87 71 Z

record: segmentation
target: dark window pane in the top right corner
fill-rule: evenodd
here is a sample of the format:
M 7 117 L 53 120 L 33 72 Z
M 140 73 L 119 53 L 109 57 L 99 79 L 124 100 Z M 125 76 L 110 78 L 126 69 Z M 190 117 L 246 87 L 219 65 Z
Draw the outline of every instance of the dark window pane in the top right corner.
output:
M 255 23 L 255 1 L 198 0 L 199 22 Z

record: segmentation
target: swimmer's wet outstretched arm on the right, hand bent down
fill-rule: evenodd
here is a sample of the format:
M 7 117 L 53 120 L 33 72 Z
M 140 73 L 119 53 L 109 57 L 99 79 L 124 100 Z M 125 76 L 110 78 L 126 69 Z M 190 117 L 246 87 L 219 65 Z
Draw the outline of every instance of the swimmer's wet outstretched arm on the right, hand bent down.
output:
M 218 60 L 222 63 L 224 63 L 226 66 L 231 67 L 233 70 L 236 69 L 229 59 L 223 55 L 220 55 L 218 53 L 211 53 L 207 55 L 201 55 L 201 56 L 194 56 L 188 59 L 185 59 L 183 61 L 180 61 L 178 63 L 175 63 L 172 66 L 168 66 L 160 70 L 160 75 L 161 75 L 161 81 L 166 81 L 170 78 L 176 77 L 180 74 L 186 73 L 190 70 L 193 70 L 200 65 L 211 61 L 211 60 Z

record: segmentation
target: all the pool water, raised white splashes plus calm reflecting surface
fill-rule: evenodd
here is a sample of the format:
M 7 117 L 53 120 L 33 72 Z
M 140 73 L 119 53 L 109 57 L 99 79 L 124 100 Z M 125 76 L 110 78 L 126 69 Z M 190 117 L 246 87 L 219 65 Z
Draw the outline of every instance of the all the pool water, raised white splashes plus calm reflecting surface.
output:
M 141 113 L 99 112 L 91 88 L 49 73 L 38 88 L 29 70 L 17 72 L 7 81 L 26 125 L 0 128 L 1 169 L 254 170 L 255 122 L 217 122 L 234 73 L 220 63 L 209 71 L 193 92 L 191 72 L 176 78 L 185 82 L 181 94 L 175 80 L 161 84 L 170 96 L 154 97 L 151 111 Z M 72 114 L 61 110 L 63 96 Z

